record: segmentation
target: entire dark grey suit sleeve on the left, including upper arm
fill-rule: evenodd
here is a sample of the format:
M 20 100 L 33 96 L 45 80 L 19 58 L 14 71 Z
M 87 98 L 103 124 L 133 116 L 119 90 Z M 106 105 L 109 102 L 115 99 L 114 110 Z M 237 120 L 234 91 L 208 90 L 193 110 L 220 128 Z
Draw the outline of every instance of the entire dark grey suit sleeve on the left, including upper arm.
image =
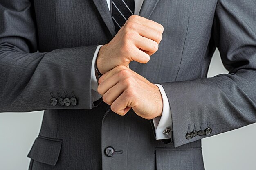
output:
M 91 109 L 91 64 L 97 48 L 82 46 L 38 52 L 35 13 L 29 0 L 0 2 L 0 112 Z M 52 106 L 58 98 L 75 106 Z

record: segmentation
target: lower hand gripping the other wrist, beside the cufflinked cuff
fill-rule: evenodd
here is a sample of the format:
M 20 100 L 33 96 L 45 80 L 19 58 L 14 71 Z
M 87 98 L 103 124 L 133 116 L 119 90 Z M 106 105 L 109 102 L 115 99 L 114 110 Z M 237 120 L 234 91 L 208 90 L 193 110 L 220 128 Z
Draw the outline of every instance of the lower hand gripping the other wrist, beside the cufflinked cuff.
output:
M 117 66 L 101 76 L 98 92 L 119 115 L 125 115 L 130 108 L 145 119 L 162 115 L 163 101 L 158 87 L 126 66 Z

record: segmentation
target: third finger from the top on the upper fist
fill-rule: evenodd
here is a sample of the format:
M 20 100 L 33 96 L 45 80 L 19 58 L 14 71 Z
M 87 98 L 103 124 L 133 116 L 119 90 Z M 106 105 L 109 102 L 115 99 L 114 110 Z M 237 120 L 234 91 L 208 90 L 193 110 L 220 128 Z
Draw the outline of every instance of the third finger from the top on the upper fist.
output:
M 152 54 L 158 50 L 157 42 L 141 36 L 136 37 L 135 46 L 144 51 L 151 52 Z

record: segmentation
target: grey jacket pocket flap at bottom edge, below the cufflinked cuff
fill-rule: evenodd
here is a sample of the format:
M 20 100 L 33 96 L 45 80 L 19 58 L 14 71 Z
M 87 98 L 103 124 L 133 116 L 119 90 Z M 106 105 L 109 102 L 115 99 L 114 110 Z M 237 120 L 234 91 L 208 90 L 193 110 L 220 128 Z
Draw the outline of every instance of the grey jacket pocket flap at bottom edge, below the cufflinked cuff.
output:
M 201 148 L 155 148 L 157 170 L 204 170 Z

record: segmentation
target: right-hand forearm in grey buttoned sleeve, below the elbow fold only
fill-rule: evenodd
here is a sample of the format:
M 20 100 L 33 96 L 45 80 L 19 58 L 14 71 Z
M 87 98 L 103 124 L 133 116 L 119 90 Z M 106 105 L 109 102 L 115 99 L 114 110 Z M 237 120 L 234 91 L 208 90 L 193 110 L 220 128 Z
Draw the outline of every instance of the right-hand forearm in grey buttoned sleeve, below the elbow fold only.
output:
M 160 83 L 168 96 L 175 147 L 256 122 L 256 71 Z M 187 139 L 187 133 L 212 129 Z

